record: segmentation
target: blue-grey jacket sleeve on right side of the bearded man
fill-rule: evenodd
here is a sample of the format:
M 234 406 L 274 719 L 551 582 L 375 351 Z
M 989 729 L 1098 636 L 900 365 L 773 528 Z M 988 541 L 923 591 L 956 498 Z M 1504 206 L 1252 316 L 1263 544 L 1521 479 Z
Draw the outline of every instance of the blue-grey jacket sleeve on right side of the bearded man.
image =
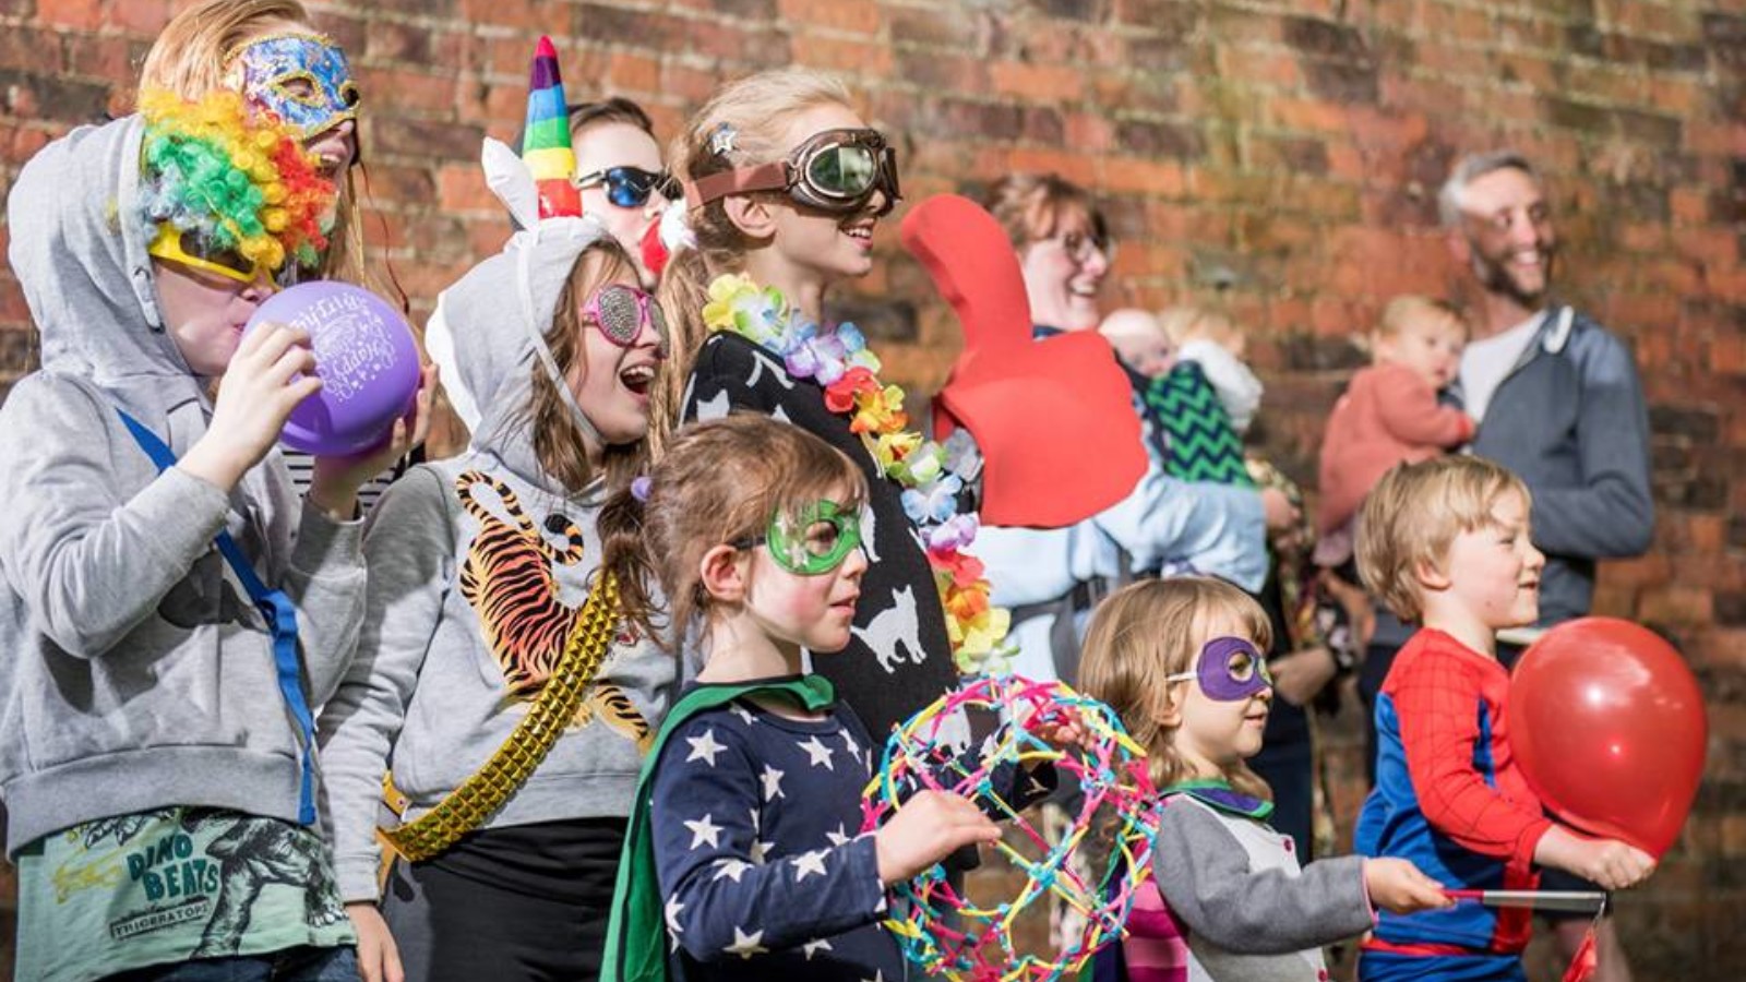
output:
M 1545 552 L 1608 559 L 1641 556 L 1655 535 L 1648 484 L 1648 411 L 1631 351 L 1594 328 L 1573 342 L 1582 372 L 1577 456 L 1584 482 L 1533 491 L 1533 542 Z

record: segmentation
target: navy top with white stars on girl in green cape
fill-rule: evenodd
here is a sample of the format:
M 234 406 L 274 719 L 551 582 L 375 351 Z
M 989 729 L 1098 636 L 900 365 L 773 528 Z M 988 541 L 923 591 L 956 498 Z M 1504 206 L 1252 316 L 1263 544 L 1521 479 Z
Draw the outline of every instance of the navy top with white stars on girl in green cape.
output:
M 904 979 L 873 837 L 856 835 L 871 755 L 845 702 L 791 720 L 735 701 L 672 734 L 650 826 L 676 977 Z

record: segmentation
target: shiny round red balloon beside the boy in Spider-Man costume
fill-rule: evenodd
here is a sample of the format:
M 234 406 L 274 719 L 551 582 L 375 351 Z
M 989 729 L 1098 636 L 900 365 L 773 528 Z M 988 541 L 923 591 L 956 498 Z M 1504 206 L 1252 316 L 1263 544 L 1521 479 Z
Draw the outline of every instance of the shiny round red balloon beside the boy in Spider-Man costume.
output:
M 1510 750 L 1570 825 L 1660 856 L 1704 772 L 1704 695 L 1653 631 L 1613 617 L 1552 627 L 1510 678 Z

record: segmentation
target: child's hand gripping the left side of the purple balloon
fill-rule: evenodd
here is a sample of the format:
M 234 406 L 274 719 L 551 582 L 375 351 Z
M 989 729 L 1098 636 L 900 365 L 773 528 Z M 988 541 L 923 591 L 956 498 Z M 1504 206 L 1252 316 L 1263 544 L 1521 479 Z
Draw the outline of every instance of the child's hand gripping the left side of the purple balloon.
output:
M 314 367 L 309 332 L 281 323 L 248 332 L 218 383 L 211 425 L 176 467 L 220 491 L 236 488 L 267 456 L 292 409 L 321 388 Z

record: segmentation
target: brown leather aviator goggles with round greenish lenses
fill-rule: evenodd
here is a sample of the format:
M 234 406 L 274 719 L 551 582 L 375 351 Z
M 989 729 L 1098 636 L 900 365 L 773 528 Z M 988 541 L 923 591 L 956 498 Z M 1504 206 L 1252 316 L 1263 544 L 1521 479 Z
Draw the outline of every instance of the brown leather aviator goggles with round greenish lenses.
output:
M 796 204 L 850 215 L 883 194 L 876 215 L 889 215 L 903 199 L 897 189 L 897 150 L 878 129 L 826 129 L 794 147 L 786 161 L 733 168 L 688 183 L 691 208 L 730 194 L 786 190 Z

